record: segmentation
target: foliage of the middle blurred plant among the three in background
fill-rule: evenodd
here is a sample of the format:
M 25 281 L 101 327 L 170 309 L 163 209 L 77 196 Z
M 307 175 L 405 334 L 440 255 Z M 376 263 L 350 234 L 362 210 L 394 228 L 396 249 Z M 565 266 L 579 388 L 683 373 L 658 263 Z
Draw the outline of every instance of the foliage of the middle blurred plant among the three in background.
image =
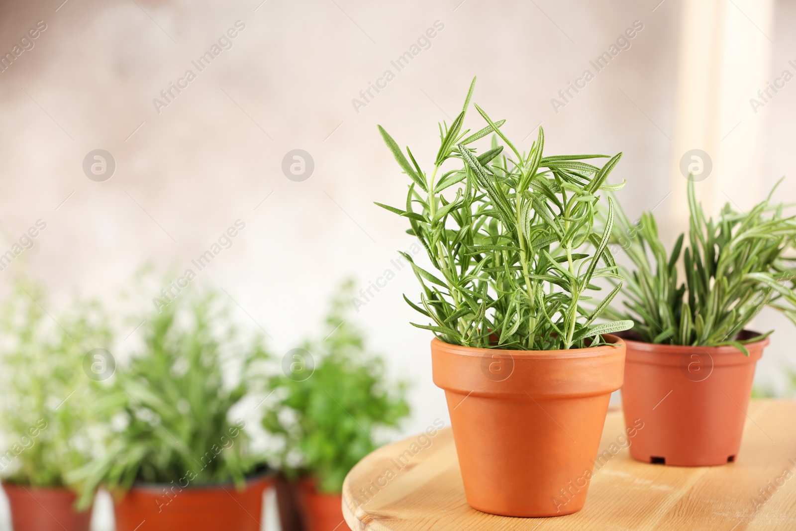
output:
M 243 486 L 256 467 L 244 423 L 230 410 L 262 381 L 267 353 L 259 339 L 236 338 L 217 293 L 194 289 L 147 316 L 143 351 L 117 370 L 103 406 L 121 428 L 103 459 L 74 474 L 92 489 L 172 481 Z M 87 494 L 80 504 L 90 501 Z

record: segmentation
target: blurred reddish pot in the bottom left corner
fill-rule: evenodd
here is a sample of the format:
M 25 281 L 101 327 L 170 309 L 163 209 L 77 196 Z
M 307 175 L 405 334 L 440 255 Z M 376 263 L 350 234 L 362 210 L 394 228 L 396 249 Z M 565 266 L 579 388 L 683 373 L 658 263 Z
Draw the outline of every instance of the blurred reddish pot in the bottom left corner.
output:
M 72 490 L 3 483 L 14 531 L 88 531 L 92 510 L 77 513 Z

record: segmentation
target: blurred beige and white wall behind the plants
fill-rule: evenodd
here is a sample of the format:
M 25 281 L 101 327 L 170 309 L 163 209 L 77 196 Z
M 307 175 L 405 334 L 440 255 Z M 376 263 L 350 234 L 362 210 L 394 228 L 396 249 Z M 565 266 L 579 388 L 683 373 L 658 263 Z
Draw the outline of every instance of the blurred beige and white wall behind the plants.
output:
M 787 30 L 794 7 L 778 2 L 777 9 L 775 70 L 796 58 Z M 427 167 L 438 146 L 435 123 L 455 117 L 472 76 L 474 100 L 508 119 L 504 130 L 524 146 L 542 123 L 549 153 L 623 151 L 612 179 L 627 180 L 620 197 L 631 217 L 685 187 L 671 178 L 678 0 L 3 2 L 0 52 L 39 20 L 47 29 L 33 49 L 0 73 L 5 248 L 38 219 L 47 224 L 14 267 L 60 297 L 77 289 L 111 299 L 142 263 L 184 271 L 241 220 L 232 247 L 199 277 L 223 287 L 236 318 L 266 330 L 280 355 L 313 332 L 342 277 L 355 275 L 366 288 L 412 244 L 402 220 L 372 202 L 400 205 L 407 183 L 377 124 Z M 197 72 L 191 61 L 236 21 L 245 28 L 232 48 Z M 390 61 L 435 21 L 443 29 L 430 47 L 396 72 Z M 590 61 L 634 22 L 642 29 L 629 48 L 597 72 Z M 196 79 L 158 112 L 153 99 L 189 68 Z M 385 69 L 395 79 L 355 109 L 353 98 Z M 593 79 L 561 98 L 587 69 Z M 783 197 L 793 197 L 796 178 L 794 106 L 796 81 L 751 118 L 765 124 L 763 181 L 793 176 Z M 480 125 L 470 116 L 470 127 Z M 107 182 L 82 169 L 97 148 L 115 158 Z M 314 159 L 304 182 L 281 168 L 295 149 Z M 416 315 L 401 299 L 416 294 L 416 281 L 395 272 L 356 318 L 392 374 L 416 381 L 405 429 L 418 431 L 437 417 L 447 422 L 447 411 L 431 381 L 430 338 L 408 325 Z M 2 289 L 9 274 L 0 271 Z M 767 316 L 760 326 L 774 321 Z M 768 379 L 792 359 L 796 338 L 776 322 L 780 334 L 760 363 Z

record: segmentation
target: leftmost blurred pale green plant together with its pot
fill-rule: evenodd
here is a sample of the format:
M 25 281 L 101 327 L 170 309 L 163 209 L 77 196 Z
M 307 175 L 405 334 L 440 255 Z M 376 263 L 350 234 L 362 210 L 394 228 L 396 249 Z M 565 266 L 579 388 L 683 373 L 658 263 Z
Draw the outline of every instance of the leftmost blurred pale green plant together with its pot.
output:
M 83 486 L 67 475 L 100 442 L 84 359 L 110 346 L 111 329 L 99 303 L 76 301 L 57 320 L 42 305 L 41 287 L 20 280 L 3 307 L 0 475 L 16 531 L 88 531 L 94 491 L 74 510 Z

